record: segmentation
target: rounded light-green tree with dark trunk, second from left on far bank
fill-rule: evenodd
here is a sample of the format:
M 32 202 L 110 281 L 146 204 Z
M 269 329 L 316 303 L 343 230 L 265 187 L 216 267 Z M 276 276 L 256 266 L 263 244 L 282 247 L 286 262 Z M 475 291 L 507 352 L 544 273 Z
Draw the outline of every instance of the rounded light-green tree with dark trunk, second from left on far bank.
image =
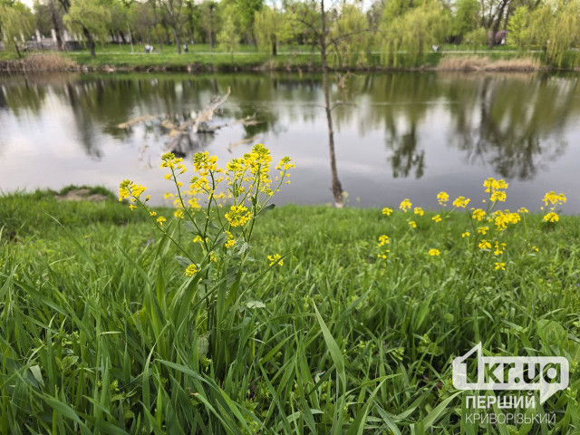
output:
M 63 21 L 74 33 L 82 33 L 91 56 L 95 57 L 95 41 L 106 40 L 111 13 L 99 0 L 73 0 Z

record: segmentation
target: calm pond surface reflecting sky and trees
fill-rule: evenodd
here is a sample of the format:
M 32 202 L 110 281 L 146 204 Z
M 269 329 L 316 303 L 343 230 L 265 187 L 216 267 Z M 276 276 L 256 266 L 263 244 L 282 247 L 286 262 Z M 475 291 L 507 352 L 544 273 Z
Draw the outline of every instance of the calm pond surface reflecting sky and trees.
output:
M 356 74 L 333 85 L 338 173 L 353 206 L 402 198 L 436 208 L 440 190 L 480 199 L 488 177 L 505 178 L 509 207 L 539 208 L 546 190 L 580 212 L 580 76 Z M 159 169 L 168 131 L 160 121 L 121 130 L 143 115 L 186 119 L 231 88 L 217 121 L 256 114 L 254 126 L 182 141 L 188 158 L 220 159 L 263 142 L 296 161 L 277 203 L 332 202 L 321 78 L 295 74 L 50 75 L 0 77 L 0 189 L 101 184 L 148 186 L 162 201 Z M 239 143 L 251 139 L 249 142 Z

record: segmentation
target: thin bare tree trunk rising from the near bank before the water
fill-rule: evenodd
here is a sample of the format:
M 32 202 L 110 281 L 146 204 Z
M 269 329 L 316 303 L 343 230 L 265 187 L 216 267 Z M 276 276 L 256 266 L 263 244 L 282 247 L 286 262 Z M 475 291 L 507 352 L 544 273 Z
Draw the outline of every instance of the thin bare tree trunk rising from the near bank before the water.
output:
M 336 154 L 334 152 L 334 131 L 333 112 L 330 106 L 330 91 L 328 84 L 328 68 L 326 65 L 326 14 L 324 12 L 324 0 L 320 0 L 320 10 L 322 19 L 322 34 L 320 36 L 320 54 L 323 67 L 323 88 L 324 88 L 324 110 L 326 111 L 326 122 L 328 124 L 328 149 L 330 151 L 330 171 L 333 182 L 334 207 L 343 208 L 343 187 L 338 179 L 336 169 Z

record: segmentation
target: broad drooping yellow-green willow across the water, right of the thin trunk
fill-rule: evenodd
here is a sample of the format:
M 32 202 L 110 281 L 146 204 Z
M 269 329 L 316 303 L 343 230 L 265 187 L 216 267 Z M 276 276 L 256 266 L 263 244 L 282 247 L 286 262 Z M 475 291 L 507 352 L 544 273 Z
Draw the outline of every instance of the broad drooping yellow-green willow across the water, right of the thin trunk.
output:
M 382 63 L 398 66 L 399 54 L 406 65 L 418 65 L 432 45 L 449 33 L 449 12 L 437 1 L 427 1 L 397 17 L 385 15 L 379 32 Z

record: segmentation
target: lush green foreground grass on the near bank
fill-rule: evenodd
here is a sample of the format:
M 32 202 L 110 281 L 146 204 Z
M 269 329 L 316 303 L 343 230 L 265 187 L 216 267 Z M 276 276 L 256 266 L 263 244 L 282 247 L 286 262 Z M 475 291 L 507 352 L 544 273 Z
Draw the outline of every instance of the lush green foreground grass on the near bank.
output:
M 377 209 L 260 218 L 220 375 L 204 295 L 139 210 L 0 198 L 0 433 L 577 433 L 580 218 L 509 227 L 501 272 L 461 238 L 471 219 L 433 215 L 416 229 Z M 250 286 L 275 253 L 285 265 Z M 543 405 L 556 427 L 465 423 L 450 362 L 479 341 L 570 359 L 570 390 Z

